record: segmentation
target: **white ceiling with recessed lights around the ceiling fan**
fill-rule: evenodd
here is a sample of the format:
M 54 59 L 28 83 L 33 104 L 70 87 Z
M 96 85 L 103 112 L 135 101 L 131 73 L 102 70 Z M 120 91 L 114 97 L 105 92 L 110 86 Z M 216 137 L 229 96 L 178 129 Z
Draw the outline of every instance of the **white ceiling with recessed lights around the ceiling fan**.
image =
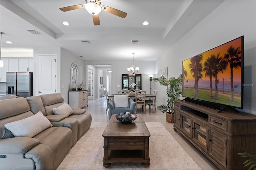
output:
M 218 7 L 221 0 L 102 0 L 102 5 L 127 13 L 126 18 L 102 11 L 100 25 L 84 8 L 83 0 L 1 0 L 2 51 L 8 47 L 62 47 L 84 60 L 154 61 Z M 69 22 L 64 26 L 62 22 Z M 142 22 L 148 21 L 144 26 Z M 34 35 L 27 30 L 36 30 Z M 139 40 L 138 44 L 131 40 Z M 4 43 L 11 41 L 12 44 Z M 89 41 L 90 43 L 83 43 Z

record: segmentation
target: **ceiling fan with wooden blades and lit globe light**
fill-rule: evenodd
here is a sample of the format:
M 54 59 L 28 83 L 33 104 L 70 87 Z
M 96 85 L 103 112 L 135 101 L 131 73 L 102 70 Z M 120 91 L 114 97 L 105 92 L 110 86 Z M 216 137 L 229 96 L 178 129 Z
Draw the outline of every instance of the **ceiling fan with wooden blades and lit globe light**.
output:
M 92 14 L 92 20 L 93 20 L 94 26 L 100 25 L 100 18 L 98 14 L 100 13 L 101 10 L 104 10 L 106 12 L 109 12 L 110 14 L 119 16 L 121 18 L 125 18 L 127 15 L 126 12 L 102 5 L 101 0 L 85 0 L 85 2 L 86 4 L 66 6 L 66 7 L 60 8 L 60 10 L 62 10 L 63 12 L 66 12 L 66 11 L 76 10 L 79 8 L 85 8 L 90 14 Z

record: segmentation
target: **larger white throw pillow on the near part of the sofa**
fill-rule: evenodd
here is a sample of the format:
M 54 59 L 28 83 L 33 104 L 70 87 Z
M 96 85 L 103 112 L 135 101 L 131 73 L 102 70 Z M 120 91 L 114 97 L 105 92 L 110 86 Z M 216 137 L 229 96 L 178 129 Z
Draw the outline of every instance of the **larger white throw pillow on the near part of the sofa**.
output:
M 44 117 L 42 112 L 38 112 L 35 115 L 25 119 L 6 123 L 4 127 L 10 130 L 16 137 L 31 138 L 45 129 L 52 127 L 52 124 L 46 117 Z

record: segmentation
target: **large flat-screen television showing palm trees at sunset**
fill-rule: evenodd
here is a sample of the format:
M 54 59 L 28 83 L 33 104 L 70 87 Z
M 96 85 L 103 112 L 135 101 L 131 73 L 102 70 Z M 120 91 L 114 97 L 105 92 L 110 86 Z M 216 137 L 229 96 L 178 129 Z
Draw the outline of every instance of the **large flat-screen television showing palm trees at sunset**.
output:
M 182 96 L 219 112 L 227 107 L 242 109 L 243 60 L 241 36 L 182 61 Z

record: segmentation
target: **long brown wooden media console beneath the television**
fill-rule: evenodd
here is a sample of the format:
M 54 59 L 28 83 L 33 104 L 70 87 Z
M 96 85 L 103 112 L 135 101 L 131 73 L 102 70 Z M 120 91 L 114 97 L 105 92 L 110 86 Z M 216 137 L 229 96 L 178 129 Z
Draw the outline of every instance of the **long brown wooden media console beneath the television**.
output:
M 223 170 L 248 169 L 238 153 L 256 154 L 256 115 L 175 101 L 173 127 Z

